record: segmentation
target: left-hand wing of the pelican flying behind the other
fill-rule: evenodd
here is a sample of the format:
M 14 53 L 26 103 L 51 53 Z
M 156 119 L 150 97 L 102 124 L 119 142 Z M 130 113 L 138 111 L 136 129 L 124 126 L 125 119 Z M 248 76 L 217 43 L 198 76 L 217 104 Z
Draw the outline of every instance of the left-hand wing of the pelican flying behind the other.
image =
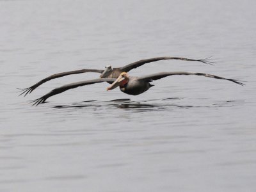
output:
M 38 86 L 40 86 L 41 84 L 47 82 L 47 81 L 50 81 L 51 79 L 56 79 L 56 78 L 59 78 L 59 77 L 63 77 L 63 76 L 69 76 L 69 75 L 72 75 L 72 74 L 81 74 L 81 73 L 85 73 L 85 72 L 95 72 L 95 73 L 100 73 L 102 74 L 104 70 L 98 70 L 98 69 L 81 69 L 81 70 L 72 70 L 72 71 L 68 71 L 68 72 L 62 72 L 62 73 L 59 73 L 59 74 L 53 74 L 49 77 L 46 77 L 45 79 L 42 79 L 41 81 L 38 81 L 38 83 L 30 86 L 29 88 L 24 88 L 24 89 L 20 89 L 22 93 L 20 93 L 20 95 L 24 95 L 24 97 L 28 94 L 28 93 L 31 93 L 33 92 L 33 90 L 35 90 L 35 88 L 37 88 Z

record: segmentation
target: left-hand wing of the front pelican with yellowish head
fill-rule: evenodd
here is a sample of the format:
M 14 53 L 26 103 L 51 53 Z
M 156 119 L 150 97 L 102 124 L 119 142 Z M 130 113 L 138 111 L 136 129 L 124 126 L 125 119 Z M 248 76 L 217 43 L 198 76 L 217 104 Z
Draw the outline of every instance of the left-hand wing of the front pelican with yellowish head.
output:
M 51 92 L 45 94 L 44 96 L 42 96 L 38 99 L 31 100 L 31 103 L 33 103 L 33 106 L 34 105 L 37 106 L 38 104 L 45 102 L 45 100 L 48 99 L 49 97 L 52 97 L 53 95 L 57 95 L 59 93 L 65 92 L 70 89 L 74 89 L 79 86 L 84 86 L 84 85 L 94 84 L 94 83 L 114 82 L 115 80 L 116 79 L 114 79 L 114 78 L 100 78 L 100 79 L 92 79 L 92 80 L 88 80 L 88 81 L 79 81 L 77 83 L 65 84 L 63 86 L 60 86 L 59 88 L 55 88 Z

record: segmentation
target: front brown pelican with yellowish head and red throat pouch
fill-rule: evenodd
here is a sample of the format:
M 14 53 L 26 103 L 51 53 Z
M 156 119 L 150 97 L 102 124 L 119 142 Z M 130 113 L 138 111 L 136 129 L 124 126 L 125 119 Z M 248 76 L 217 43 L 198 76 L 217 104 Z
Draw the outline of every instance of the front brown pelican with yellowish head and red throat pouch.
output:
M 117 79 L 99 78 L 99 79 L 66 84 L 59 88 L 55 88 L 51 92 L 45 94 L 39 99 L 32 100 L 31 102 L 33 103 L 33 105 L 37 106 L 38 104 L 45 102 L 46 99 L 48 99 L 49 97 L 52 97 L 53 95 L 65 92 L 73 88 L 77 88 L 78 86 L 84 86 L 88 84 L 102 83 L 102 82 L 109 82 L 109 83 L 112 82 L 112 84 L 107 88 L 107 90 L 113 90 L 114 88 L 119 86 L 120 90 L 124 93 L 127 93 L 129 95 L 139 95 L 143 92 L 146 92 L 150 87 L 154 86 L 153 84 L 150 84 L 150 82 L 157 79 L 161 79 L 163 77 L 175 76 L 175 75 L 195 75 L 195 76 L 211 77 L 215 79 L 224 79 L 224 80 L 232 81 L 242 86 L 244 85 L 243 83 L 241 83 L 242 81 L 239 81 L 237 79 L 227 79 L 220 76 L 214 76 L 211 74 L 203 74 L 203 73 L 196 73 L 196 72 L 159 72 L 157 74 L 151 74 L 148 76 L 141 76 L 141 77 L 128 76 L 126 72 L 122 72 Z

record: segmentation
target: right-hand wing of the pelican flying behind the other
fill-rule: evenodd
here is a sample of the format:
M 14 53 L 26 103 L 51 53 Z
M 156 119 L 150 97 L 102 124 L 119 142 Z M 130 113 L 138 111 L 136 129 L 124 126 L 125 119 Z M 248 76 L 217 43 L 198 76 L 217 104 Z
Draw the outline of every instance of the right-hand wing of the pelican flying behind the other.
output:
M 150 58 L 150 59 L 147 59 L 147 60 L 136 61 L 134 63 L 125 65 L 124 67 L 120 67 L 120 70 L 122 72 L 129 72 L 133 68 L 140 67 L 141 65 L 144 65 L 145 63 L 151 63 L 151 62 L 159 61 L 159 60 L 199 61 L 199 62 L 202 62 L 202 63 L 205 63 L 205 64 L 209 64 L 209 65 L 213 65 L 214 64 L 214 62 L 211 61 L 210 58 L 205 58 L 205 59 L 202 59 L 202 60 L 192 60 L 192 59 L 188 59 L 188 58 L 159 57 L 159 58 Z

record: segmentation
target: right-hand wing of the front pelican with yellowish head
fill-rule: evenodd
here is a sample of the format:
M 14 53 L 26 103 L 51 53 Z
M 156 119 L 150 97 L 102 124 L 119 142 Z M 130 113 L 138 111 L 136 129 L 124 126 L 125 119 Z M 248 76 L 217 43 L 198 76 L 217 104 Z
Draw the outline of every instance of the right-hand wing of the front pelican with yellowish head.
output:
M 203 74 L 203 73 L 195 73 L 195 72 L 160 72 L 160 73 L 157 73 L 157 74 L 152 74 L 152 75 L 148 75 L 148 76 L 139 77 L 138 80 L 152 81 L 152 80 L 157 80 L 157 79 L 161 79 L 163 77 L 174 76 L 174 75 L 204 76 L 204 77 L 210 77 L 210 78 L 214 78 L 214 79 L 224 79 L 224 80 L 228 80 L 228 81 L 232 81 L 234 83 L 240 84 L 242 86 L 244 85 L 244 83 L 242 83 L 243 81 L 239 81 L 238 79 L 227 79 L 227 78 L 224 78 L 224 77 L 214 76 L 214 75 L 211 75 L 211 74 Z

